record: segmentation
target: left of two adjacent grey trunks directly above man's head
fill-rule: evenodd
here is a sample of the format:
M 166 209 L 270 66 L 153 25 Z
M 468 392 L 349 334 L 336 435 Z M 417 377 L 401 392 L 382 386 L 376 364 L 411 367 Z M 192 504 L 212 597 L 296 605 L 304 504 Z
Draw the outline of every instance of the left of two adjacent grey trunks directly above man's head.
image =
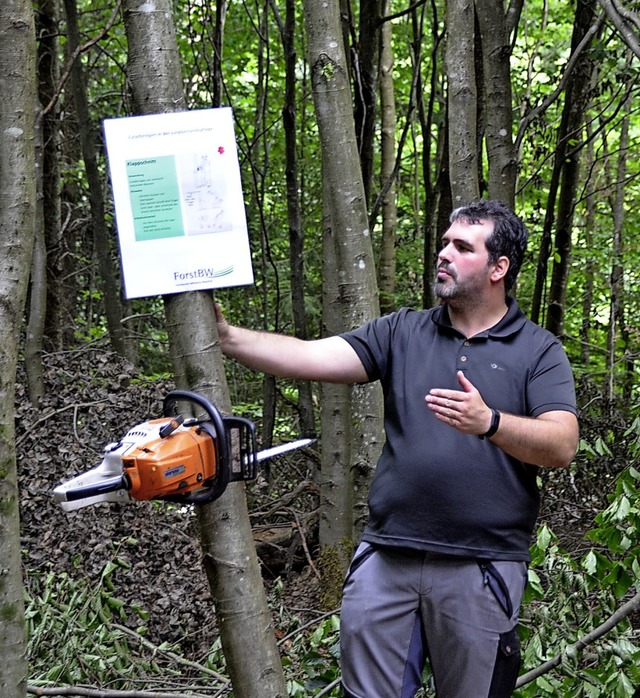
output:
M 472 0 L 449 0 L 446 71 L 449 174 L 454 206 L 462 206 L 480 196 L 474 37 Z

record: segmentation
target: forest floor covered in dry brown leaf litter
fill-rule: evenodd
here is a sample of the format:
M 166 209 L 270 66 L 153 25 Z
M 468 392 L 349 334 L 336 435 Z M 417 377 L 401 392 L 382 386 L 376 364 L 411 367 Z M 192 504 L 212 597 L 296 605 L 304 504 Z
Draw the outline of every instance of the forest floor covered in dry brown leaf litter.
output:
M 132 609 L 124 624 L 138 627 L 133 609 L 141 607 L 148 612 L 147 640 L 176 643 L 194 659 L 206 656 L 217 630 L 193 513 L 150 502 L 65 513 L 52 496 L 61 481 L 98 464 L 104 447 L 131 426 L 161 416 L 173 386 L 140 381 L 134 369 L 99 349 L 48 356 L 46 383 L 36 409 L 19 372 L 16 440 L 27 589 L 50 572 L 94 585 L 117 559 L 124 564 L 110 575 L 110 593 Z M 249 487 L 263 577 L 270 595 L 277 587 L 277 605 L 286 605 L 287 614 L 313 620 L 323 613 L 315 566 L 317 493 L 303 455 L 279 461 L 286 462 L 278 462 L 275 482 Z M 602 497 L 602 490 L 586 492 L 569 470 L 548 474 L 542 518 L 564 547 L 579 552 Z

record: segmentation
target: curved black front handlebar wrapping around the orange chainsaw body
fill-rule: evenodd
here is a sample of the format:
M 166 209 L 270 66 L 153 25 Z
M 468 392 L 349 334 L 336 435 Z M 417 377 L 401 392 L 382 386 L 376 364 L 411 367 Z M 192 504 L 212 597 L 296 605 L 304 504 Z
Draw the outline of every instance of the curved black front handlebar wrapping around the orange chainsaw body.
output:
M 190 390 L 172 390 L 166 395 L 163 402 L 163 413 L 165 417 L 173 417 L 175 403 L 179 400 L 191 402 L 201 407 L 209 417 L 209 422 L 202 422 L 202 428 L 211 436 L 213 447 L 216 454 L 216 463 L 218 472 L 215 483 L 203 490 L 202 492 L 193 492 L 186 494 L 176 494 L 164 499 L 170 502 L 180 502 L 183 504 L 206 504 L 217 499 L 227 488 L 230 480 L 230 451 L 229 442 L 227 440 L 227 430 L 224 420 L 218 411 L 218 408 L 206 397 L 200 393 L 194 393 Z

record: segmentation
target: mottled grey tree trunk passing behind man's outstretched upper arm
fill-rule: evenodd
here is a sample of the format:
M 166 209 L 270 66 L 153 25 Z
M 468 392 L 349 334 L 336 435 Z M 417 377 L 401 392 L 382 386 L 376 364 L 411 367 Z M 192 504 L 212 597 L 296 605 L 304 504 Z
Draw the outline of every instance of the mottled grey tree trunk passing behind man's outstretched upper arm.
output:
M 345 331 L 371 320 L 379 310 L 339 9 L 336 0 L 323 5 L 313 1 L 304 4 L 314 105 L 322 148 L 324 208 L 331 212 L 331 239 L 336 260 L 336 270 L 331 272 L 337 281 L 336 323 L 340 330 Z M 325 269 L 328 263 L 325 259 Z M 327 271 L 327 278 L 331 273 Z M 323 410 L 326 409 L 331 407 L 323 405 Z M 355 537 L 361 532 L 366 518 L 366 494 L 381 447 L 379 386 L 353 388 L 350 414 L 342 417 L 349 420 L 349 425 L 345 423 L 342 431 L 346 434 L 351 429 L 352 438 L 350 453 L 344 453 L 337 460 L 350 469 L 352 477 L 355 494 L 352 535 Z M 324 456 L 322 467 L 324 480 Z M 345 512 L 342 515 L 350 514 Z M 326 535 L 326 528 L 321 528 L 321 544 L 327 541 Z M 334 542 L 333 539 L 329 541 L 330 544 Z

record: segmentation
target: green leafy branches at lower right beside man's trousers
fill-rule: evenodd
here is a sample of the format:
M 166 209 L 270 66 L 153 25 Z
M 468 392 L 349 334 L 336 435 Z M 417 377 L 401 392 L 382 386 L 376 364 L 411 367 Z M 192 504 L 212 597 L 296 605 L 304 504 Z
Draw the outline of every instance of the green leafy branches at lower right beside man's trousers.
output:
M 542 525 L 531 548 L 529 586 L 522 614 L 524 670 L 560 657 L 559 665 L 523 686 L 519 698 L 635 695 L 640 686 L 640 638 L 629 618 L 584 649 L 575 646 L 610 618 L 630 595 L 640 591 L 640 454 L 636 418 L 623 432 L 614 430 L 583 443 L 588 467 L 626 449 L 629 465 L 622 469 L 609 503 L 595 517 L 586 539 L 592 543 L 579 555 L 562 550 L 557 537 Z

